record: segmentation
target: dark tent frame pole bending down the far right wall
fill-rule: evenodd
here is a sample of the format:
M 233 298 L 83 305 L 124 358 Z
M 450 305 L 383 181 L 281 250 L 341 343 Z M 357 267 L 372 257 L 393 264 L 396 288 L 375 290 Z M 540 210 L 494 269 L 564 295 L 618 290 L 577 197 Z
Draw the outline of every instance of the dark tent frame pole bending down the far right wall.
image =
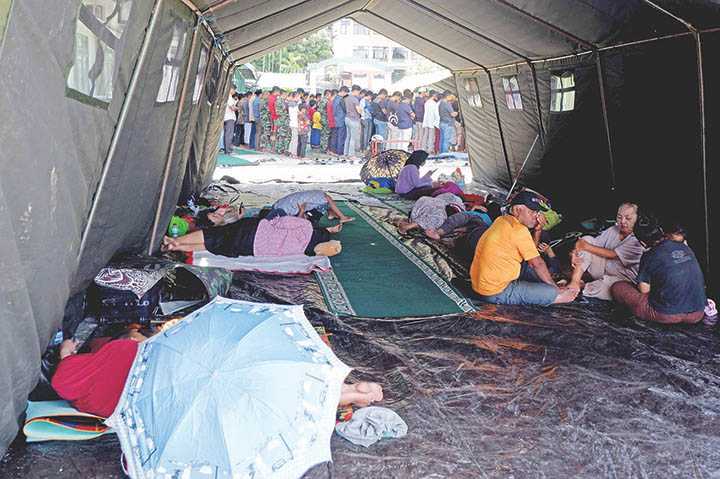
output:
M 671 13 L 662 8 L 651 0 L 643 0 L 647 5 L 655 10 L 667 15 L 673 20 L 683 24 L 695 39 L 695 51 L 697 57 L 697 76 L 698 76 L 698 108 L 700 110 L 700 160 L 702 162 L 703 172 L 703 206 L 705 207 L 705 274 L 710 274 L 710 202 L 708 200 L 708 171 L 707 171 L 707 118 L 705 114 L 705 73 L 703 71 L 703 55 L 702 55 L 702 33 L 698 28 L 687 20 Z

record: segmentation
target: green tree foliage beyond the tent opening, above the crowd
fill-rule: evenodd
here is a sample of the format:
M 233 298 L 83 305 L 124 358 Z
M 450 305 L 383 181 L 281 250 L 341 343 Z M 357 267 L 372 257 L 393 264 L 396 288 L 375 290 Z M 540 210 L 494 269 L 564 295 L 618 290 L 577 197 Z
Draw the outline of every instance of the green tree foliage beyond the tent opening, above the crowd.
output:
M 305 70 L 310 63 L 327 60 L 332 55 L 330 40 L 325 35 L 316 33 L 253 60 L 252 64 L 259 71 L 294 73 Z

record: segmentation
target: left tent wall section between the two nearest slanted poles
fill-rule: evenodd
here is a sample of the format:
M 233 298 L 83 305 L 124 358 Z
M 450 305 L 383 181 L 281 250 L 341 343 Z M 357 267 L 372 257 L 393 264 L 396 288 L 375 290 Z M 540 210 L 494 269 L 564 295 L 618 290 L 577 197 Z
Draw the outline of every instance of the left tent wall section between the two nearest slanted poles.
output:
M 152 229 L 195 23 L 179 0 L 157 5 L 156 28 L 150 31 L 136 89 L 125 105 L 127 120 L 115 132 L 117 146 L 106 160 L 105 181 L 94 198 L 78 286 L 114 252 L 141 249 Z

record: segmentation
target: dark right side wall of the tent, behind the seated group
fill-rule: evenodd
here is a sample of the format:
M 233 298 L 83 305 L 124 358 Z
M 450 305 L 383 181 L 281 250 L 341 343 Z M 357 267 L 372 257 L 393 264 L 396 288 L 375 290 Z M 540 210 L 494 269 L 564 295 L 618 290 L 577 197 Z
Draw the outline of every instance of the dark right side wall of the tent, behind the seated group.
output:
M 707 33 L 702 37 L 710 188 L 713 159 L 718 155 L 713 128 L 717 129 L 718 122 L 719 36 Z M 691 246 L 705 264 L 704 177 L 693 37 L 601 51 L 612 168 L 595 55 L 536 64 L 545 141 L 533 149 L 524 168 L 525 155 L 540 125 L 529 68 L 519 65 L 491 70 L 502 130 L 492 112 L 487 75 L 456 73 L 473 175 L 491 186 L 506 187 L 504 140 L 513 179 L 520 173 L 520 185 L 547 192 L 568 220 L 612 217 L 620 202 L 637 202 L 647 213 L 670 214 L 684 221 Z M 574 109 L 551 112 L 551 76 L 565 72 L 574 75 Z M 522 110 L 508 108 L 502 78 L 510 76 L 518 78 Z M 468 77 L 478 81 L 481 108 L 469 104 L 471 94 L 464 88 Z M 711 189 L 711 228 L 718 215 L 713 204 L 717 204 L 717 192 L 713 196 Z M 711 263 L 712 271 L 717 271 L 717 266 L 712 267 L 717 259 L 711 256 Z M 713 275 L 707 280 L 714 290 Z

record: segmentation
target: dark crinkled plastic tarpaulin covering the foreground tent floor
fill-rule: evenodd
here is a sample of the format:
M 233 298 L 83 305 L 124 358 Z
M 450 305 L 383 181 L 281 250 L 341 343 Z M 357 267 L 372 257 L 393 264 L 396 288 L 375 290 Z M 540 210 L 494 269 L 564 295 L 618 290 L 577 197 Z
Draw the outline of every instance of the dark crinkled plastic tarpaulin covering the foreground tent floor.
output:
M 484 306 L 423 319 L 336 318 L 312 277 L 237 273 L 230 296 L 305 304 L 352 380 L 409 426 L 369 448 L 333 436 L 307 478 L 671 478 L 720 474 L 715 330 L 658 327 L 600 302 Z M 120 478 L 114 436 L 25 445 L 0 477 Z

